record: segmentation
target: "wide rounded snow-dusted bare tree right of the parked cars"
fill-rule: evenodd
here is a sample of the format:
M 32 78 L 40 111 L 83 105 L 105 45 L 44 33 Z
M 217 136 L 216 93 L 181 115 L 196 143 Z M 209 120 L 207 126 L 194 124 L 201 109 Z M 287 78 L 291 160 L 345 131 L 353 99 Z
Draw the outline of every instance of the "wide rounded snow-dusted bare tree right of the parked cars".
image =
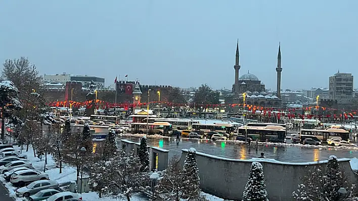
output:
M 139 157 L 133 152 L 118 150 L 105 162 L 97 162 L 90 168 L 93 190 L 103 196 L 124 198 L 138 192 L 146 176 L 140 171 Z

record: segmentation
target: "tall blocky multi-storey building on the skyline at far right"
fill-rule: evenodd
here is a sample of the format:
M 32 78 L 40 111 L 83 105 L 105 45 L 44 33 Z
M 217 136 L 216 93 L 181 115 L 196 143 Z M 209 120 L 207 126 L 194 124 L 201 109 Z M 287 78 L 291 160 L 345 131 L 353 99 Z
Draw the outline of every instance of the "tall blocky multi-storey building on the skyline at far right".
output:
M 353 99 L 353 76 L 350 73 L 336 73 L 329 77 L 329 98 L 338 103 L 347 103 Z

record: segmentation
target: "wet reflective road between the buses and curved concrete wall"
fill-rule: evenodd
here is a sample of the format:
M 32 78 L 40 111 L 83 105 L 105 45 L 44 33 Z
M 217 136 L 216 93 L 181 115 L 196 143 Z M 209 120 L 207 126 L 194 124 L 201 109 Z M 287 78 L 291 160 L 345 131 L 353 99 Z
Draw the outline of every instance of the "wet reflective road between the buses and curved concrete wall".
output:
M 141 137 L 122 136 L 121 139 L 139 142 Z M 120 143 L 120 142 L 118 142 Z M 256 144 L 247 146 L 245 144 L 234 144 L 231 142 L 211 142 L 208 140 L 182 139 L 176 144 L 175 138 L 148 138 L 148 144 L 169 150 L 169 157 L 174 155 L 181 156 L 182 149 L 195 148 L 198 152 L 219 157 L 232 159 L 257 158 L 263 152 L 267 158 L 272 158 L 283 162 L 312 162 L 327 160 L 329 156 L 335 155 L 338 158 L 358 158 L 358 150 L 335 149 L 335 148 L 307 148 L 298 146 L 274 146 L 259 144 L 256 151 Z

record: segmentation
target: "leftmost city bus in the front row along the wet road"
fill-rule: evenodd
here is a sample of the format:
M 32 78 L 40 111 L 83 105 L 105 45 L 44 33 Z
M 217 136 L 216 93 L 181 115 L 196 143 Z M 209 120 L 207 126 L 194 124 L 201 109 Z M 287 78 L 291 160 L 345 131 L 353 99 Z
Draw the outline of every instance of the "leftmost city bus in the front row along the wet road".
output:
M 148 126 L 148 127 L 147 127 Z M 148 130 L 149 128 L 149 130 Z M 172 125 L 168 122 L 153 122 L 153 123 L 131 123 L 131 133 L 147 133 L 148 135 L 158 134 L 161 136 L 171 136 L 173 133 Z

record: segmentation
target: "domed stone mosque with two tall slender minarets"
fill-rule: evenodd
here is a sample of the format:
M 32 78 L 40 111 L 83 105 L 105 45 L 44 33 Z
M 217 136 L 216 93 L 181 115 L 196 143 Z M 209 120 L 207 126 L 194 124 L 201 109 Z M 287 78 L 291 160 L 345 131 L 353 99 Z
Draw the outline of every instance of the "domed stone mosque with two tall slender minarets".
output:
M 233 84 L 232 93 L 225 96 L 225 104 L 243 104 L 243 94 L 246 94 L 246 104 L 262 107 L 280 107 L 281 100 L 281 44 L 279 45 L 279 53 L 277 56 L 277 93 L 266 92 L 265 85 L 253 74 L 248 71 L 239 77 L 240 70 L 240 54 L 239 42 L 236 46 L 235 56 L 235 82 Z

